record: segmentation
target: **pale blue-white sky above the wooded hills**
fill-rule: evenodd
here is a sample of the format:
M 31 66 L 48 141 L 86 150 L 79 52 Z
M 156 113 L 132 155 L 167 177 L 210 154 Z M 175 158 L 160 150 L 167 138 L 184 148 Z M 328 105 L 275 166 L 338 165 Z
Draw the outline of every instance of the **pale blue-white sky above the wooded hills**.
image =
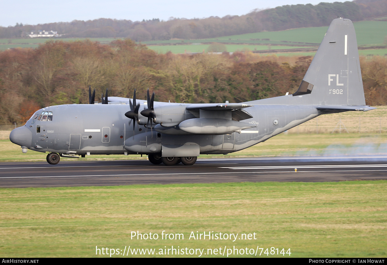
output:
M 0 26 L 29 25 L 99 18 L 142 21 L 158 18 L 205 18 L 245 15 L 252 10 L 320 2 L 319 0 L 1 0 Z

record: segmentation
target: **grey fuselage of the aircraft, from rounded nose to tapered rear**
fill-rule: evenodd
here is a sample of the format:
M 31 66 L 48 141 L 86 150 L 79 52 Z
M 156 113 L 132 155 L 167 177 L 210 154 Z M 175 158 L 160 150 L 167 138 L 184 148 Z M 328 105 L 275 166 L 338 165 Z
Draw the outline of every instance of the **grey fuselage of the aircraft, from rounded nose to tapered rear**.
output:
M 25 126 L 12 131 L 10 140 L 34 151 L 66 155 L 161 153 L 163 147 L 182 145 L 199 146 L 200 154 L 226 154 L 265 141 L 323 113 L 313 106 L 260 104 L 264 101 L 245 102 L 252 105 L 246 111 L 253 117 L 243 122 L 257 127 L 241 133 L 171 135 L 138 124 L 133 130 L 133 121 L 124 115 L 128 105 L 68 104 L 38 110 Z M 185 112 L 187 119 L 195 118 L 190 111 Z M 47 119 L 43 115 L 46 113 L 52 113 L 52 117 Z

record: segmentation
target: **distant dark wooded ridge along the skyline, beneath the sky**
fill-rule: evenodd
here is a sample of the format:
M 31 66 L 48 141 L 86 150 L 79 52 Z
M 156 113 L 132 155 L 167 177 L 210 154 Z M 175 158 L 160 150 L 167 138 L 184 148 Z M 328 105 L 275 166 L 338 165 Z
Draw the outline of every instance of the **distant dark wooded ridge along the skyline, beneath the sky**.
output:
M 318 5 L 284 5 L 253 10 L 246 15 L 226 15 L 205 19 L 171 18 L 133 22 L 131 20 L 95 19 L 55 22 L 38 25 L 0 27 L 0 38 L 25 37 L 27 32 L 52 30 L 63 37 L 120 37 L 134 41 L 169 39 L 204 39 L 261 31 L 279 31 L 298 27 L 327 26 L 337 17 L 360 21 L 387 15 L 385 0 L 319 3 Z

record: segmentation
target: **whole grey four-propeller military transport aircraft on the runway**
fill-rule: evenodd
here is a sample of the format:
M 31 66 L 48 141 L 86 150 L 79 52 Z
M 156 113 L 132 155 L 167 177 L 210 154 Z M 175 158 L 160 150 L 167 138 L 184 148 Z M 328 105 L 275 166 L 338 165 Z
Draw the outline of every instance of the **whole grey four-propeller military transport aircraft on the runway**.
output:
M 227 154 L 266 141 L 322 114 L 375 109 L 365 105 L 352 21 L 337 18 L 298 90 L 242 103 L 181 104 L 102 97 L 102 104 L 38 110 L 10 133 L 12 143 L 48 152 L 47 162 L 86 155 L 148 155 L 153 164 L 193 165 L 200 154 Z

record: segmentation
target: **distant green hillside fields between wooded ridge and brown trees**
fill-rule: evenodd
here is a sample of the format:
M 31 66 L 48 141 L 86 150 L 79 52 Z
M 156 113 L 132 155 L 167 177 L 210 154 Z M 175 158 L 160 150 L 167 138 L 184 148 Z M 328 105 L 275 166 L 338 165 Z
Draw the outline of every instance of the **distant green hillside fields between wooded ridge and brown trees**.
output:
M 382 46 L 385 45 L 384 37 L 387 36 L 387 21 L 360 21 L 354 22 L 356 30 L 356 37 L 359 46 Z M 202 52 L 203 49 L 207 51 L 210 42 L 223 42 L 226 45 L 227 51 L 243 51 L 249 49 L 250 51 L 269 49 L 292 49 L 292 48 L 310 48 L 311 45 L 307 43 L 313 43 L 316 47 L 322 41 L 325 32 L 328 27 L 307 27 L 300 29 L 289 29 L 286 31 L 274 31 L 274 32 L 257 32 L 233 36 L 224 36 L 210 39 L 196 39 L 196 40 L 182 40 L 171 39 L 167 41 L 144 41 L 142 44 L 149 45 L 150 49 L 157 51 L 158 53 L 166 53 L 171 51 L 172 53 L 184 53 Z M 86 38 L 60 38 L 54 40 L 62 41 L 77 41 Z M 114 38 L 88 38 L 91 41 L 99 41 L 101 43 L 110 43 L 115 40 Z M 12 43 L 9 43 L 11 41 Z M 47 39 L 0 39 L 0 50 L 8 48 L 36 48 L 38 44 L 43 44 Z M 307 45 L 304 47 L 299 46 L 300 43 Z M 182 45 L 189 43 L 188 45 Z M 159 45 L 158 45 L 159 44 Z M 263 45 L 257 45 L 263 44 Z M 286 46 L 284 46 L 286 45 Z M 289 46 L 295 45 L 295 46 Z M 312 45 L 313 46 L 313 45 Z M 314 52 L 287 52 L 276 53 L 278 56 L 306 56 L 314 55 Z M 360 50 L 361 55 L 381 55 L 387 54 L 387 49 L 372 49 L 372 50 Z

